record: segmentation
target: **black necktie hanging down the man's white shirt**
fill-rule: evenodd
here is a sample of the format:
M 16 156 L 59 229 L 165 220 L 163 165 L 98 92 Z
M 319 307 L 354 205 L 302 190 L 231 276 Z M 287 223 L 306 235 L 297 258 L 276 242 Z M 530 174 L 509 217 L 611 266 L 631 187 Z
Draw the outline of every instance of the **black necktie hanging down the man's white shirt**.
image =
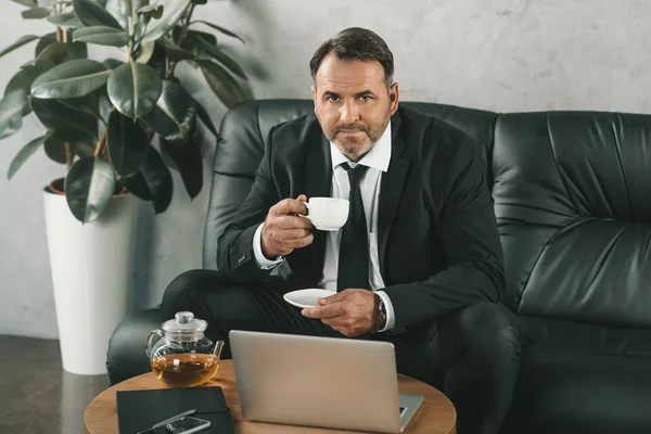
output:
M 337 292 L 348 288 L 363 288 L 369 285 L 369 235 L 367 233 L 366 215 L 361 202 L 359 181 L 368 166 L 358 164 L 354 168 L 347 163 L 342 167 L 348 173 L 350 181 L 350 209 L 348 220 L 342 229 L 340 244 L 339 271 L 336 276 Z

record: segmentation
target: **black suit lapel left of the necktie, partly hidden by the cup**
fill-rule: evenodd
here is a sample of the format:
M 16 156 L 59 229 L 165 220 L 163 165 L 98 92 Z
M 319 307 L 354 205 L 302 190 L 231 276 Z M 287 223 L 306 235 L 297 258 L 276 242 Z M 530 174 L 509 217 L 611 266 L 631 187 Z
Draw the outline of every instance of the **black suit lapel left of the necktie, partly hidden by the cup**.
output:
M 330 197 L 332 187 L 332 158 L 330 155 L 330 142 L 323 136 L 317 139 L 318 143 L 309 149 L 306 167 L 306 191 L 307 199 L 310 197 Z M 323 260 L 326 256 L 326 235 L 324 231 L 314 230 L 315 239 L 310 246 L 312 271 L 318 276 L 318 280 L 323 271 Z

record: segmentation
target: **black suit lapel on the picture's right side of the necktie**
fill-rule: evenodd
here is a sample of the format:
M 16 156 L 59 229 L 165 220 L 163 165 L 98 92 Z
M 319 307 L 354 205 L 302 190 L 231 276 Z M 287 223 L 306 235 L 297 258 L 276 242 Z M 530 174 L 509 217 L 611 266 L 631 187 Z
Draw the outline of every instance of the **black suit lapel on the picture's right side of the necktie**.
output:
M 411 162 L 401 156 L 405 151 L 405 135 L 400 129 L 400 116 L 398 112 L 392 116 L 392 153 L 388 170 L 382 174 L 382 186 L 380 189 L 380 203 L 378 210 L 378 254 L 380 258 L 380 272 L 386 284 L 385 255 L 386 244 L 391 228 L 398 210 L 398 204 L 407 179 L 407 171 Z

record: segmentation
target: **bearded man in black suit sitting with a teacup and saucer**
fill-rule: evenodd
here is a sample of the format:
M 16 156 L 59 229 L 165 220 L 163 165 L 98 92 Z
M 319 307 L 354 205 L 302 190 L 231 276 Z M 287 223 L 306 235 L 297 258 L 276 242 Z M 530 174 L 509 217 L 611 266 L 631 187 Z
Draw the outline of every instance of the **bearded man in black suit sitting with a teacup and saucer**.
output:
M 309 66 L 315 114 L 271 129 L 219 238 L 220 271 L 177 278 L 164 315 L 192 310 L 214 339 L 240 329 L 390 341 L 399 372 L 455 404 L 459 434 L 496 433 L 520 335 L 499 304 L 501 246 L 478 146 L 399 106 L 393 54 L 373 31 L 341 31 Z M 341 230 L 302 217 L 316 196 L 349 200 Z M 283 301 L 303 288 L 336 293 L 303 310 Z

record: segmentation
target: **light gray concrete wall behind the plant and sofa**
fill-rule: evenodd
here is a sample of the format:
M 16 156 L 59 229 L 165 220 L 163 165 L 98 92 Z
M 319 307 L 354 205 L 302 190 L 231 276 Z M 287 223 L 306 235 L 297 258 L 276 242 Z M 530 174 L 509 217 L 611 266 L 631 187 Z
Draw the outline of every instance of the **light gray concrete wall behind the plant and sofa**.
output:
M 403 100 L 494 111 L 651 111 L 651 11 L 648 0 L 222 0 L 203 17 L 247 43 L 222 37 L 251 76 L 256 98 L 309 98 L 308 61 L 327 37 L 348 26 L 378 31 L 392 48 Z M 5 2 L 0 46 L 50 31 L 23 22 Z M 0 60 L 0 88 L 31 48 Z M 99 53 L 99 51 L 95 51 Z M 224 107 L 192 72 L 192 92 L 215 122 Z M 55 336 L 41 188 L 63 168 L 43 153 L 8 182 L 22 144 L 40 133 L 34 118 L 0 142 L 0 333 Z M 212 143 L 206 141 L 206 167 Z M 207 180 L 207 178 L 206 178 Z M 136 307 L 159 302 L 178 273 L 201 266 L 207 188 L 190 202 L 175 177 L 175 200 L 153 216 L 141 206 Z

